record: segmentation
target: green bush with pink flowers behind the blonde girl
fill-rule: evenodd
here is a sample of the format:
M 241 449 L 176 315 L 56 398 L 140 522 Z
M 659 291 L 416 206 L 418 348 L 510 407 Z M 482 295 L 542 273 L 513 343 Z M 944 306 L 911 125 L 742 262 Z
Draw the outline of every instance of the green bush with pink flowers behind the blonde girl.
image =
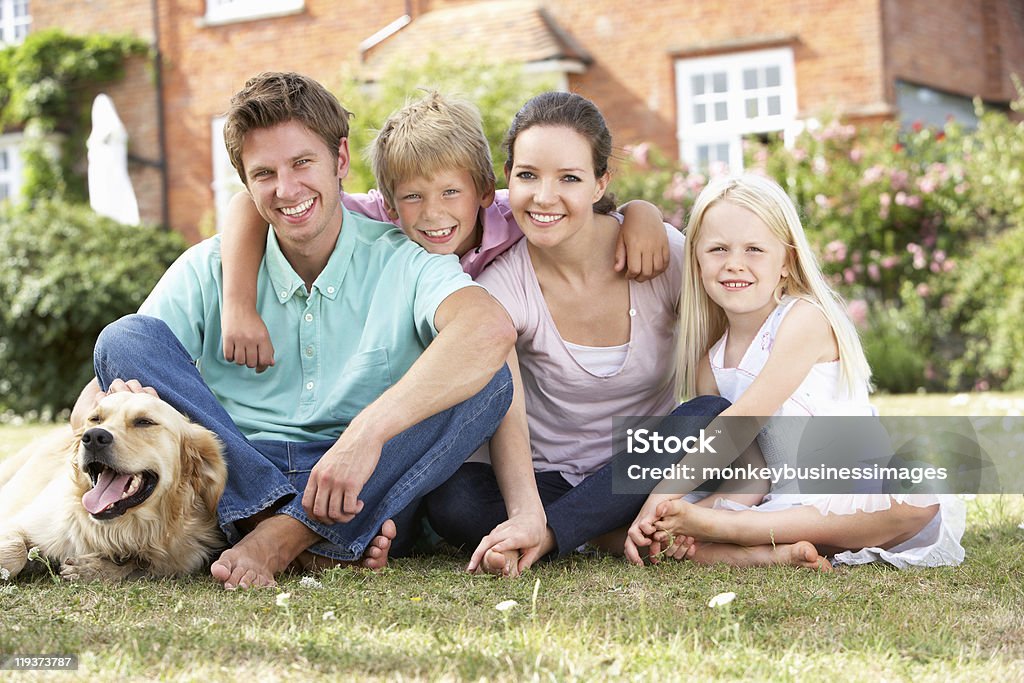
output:
M 836 289 L 870 311 L 862 335 L 880 389 L 1024 387 L 1024 254 L 1011 237 L 1024 237 L 1024 121 L 980 104 L 978 114 L 975 130 L 822 117 L 790 146 L 744 151 L 748 170 L 793 198 Z M 627 148 L 612 188 L 682 226 L 706 183 L 705 172 L 640 144 Z

